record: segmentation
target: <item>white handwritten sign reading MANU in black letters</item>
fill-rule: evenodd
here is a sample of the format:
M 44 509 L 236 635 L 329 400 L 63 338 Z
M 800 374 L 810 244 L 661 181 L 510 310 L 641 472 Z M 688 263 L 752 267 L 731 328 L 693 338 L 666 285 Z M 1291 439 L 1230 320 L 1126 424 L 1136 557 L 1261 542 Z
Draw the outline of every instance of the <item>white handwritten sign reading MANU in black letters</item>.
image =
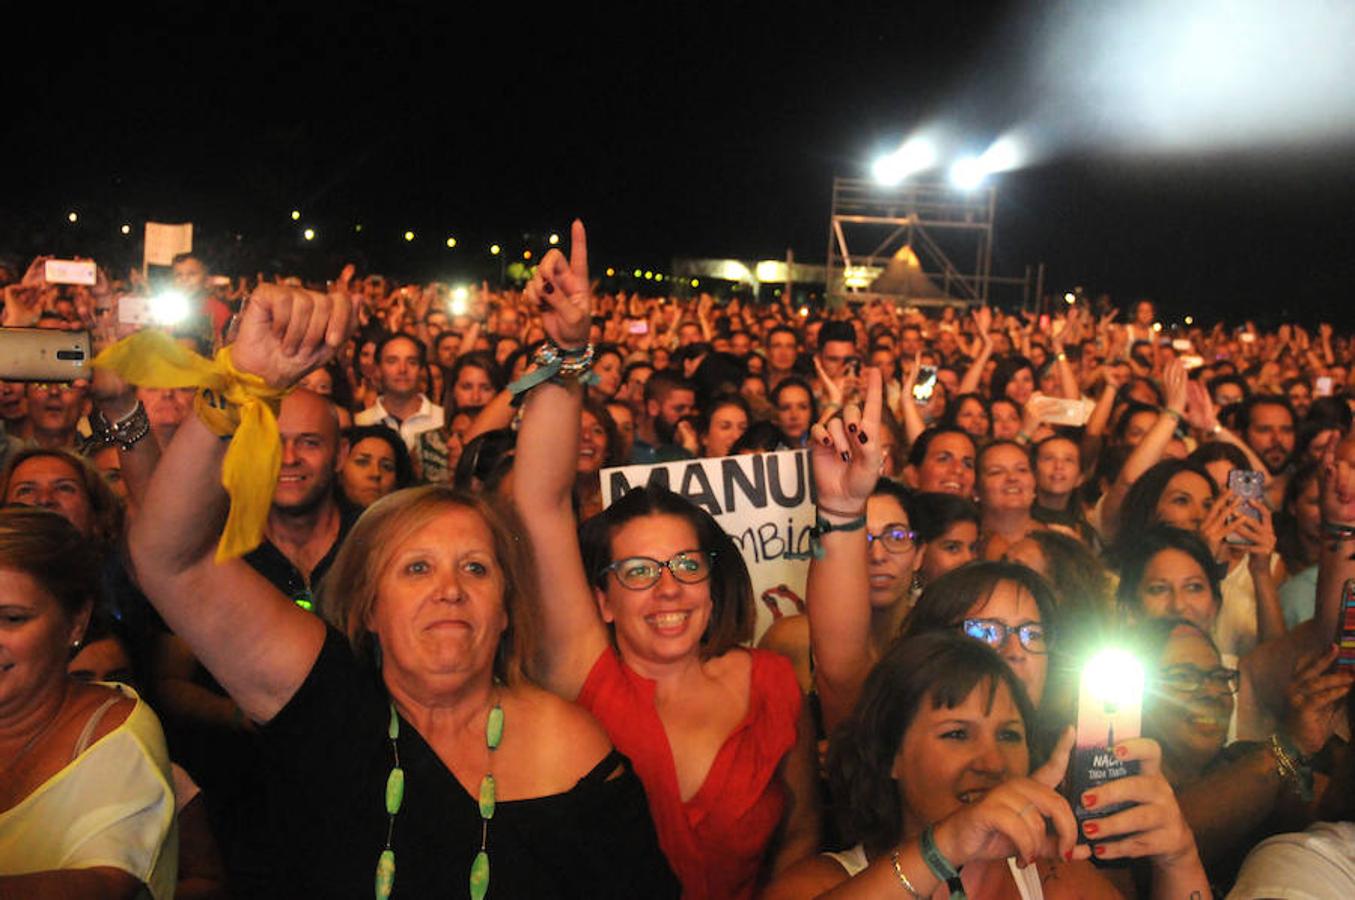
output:
M 703 508 L 744 554 L 757 607 L 756 641 L 778 618 L 805 611 L 809 562 L 789 553 L 809 552 L 814 525 L 809 453 L 780 450 L 717 459 L 679 459 L 602 470 L 602 502 L 654 485 Z

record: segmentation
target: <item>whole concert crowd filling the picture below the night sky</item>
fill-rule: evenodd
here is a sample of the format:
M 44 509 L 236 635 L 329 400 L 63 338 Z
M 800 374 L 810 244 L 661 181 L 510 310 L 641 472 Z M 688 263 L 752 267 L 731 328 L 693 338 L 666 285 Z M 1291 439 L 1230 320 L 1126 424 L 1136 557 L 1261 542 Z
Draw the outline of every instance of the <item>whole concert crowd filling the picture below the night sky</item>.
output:
M 0 896 L 1355 896 L 1355 338 L 523 287 L 4 286 Z M 5 374 L 0 361 L 0 377 Z M 802 615 L 622 464 L 805 450 Z M 1355 592 L 1352 592 L 1355 594 Z M 1068 789 L 1079 675 L 1145 671 Z

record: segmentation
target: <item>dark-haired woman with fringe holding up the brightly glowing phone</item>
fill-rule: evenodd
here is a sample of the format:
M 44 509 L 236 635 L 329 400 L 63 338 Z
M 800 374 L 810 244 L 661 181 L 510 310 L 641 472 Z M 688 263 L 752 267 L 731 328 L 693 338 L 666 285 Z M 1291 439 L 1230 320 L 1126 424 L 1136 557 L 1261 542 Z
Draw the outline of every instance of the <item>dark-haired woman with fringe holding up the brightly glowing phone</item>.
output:
M 947 632 L 897 641 L 828 755 L 848 848 L 794 866 L 766 900 L 931 897 L 943 885 L 944 896 L 974 900 L 1121 896 L 1085 862 L 1092 853 L 1150 862 L 1152 893 L 1138 896 L 1206 896 L 1157 745 L 1117 744 L 1141 771 L 1099 788 L 1098 802 L 1135 805 L 1088 821 L 1095 843 L 1079 844 L 1073 811 L 1056 790 L 1072 729 L 1037 769 L 1033 718 L 1020 682 L 992 649 Z

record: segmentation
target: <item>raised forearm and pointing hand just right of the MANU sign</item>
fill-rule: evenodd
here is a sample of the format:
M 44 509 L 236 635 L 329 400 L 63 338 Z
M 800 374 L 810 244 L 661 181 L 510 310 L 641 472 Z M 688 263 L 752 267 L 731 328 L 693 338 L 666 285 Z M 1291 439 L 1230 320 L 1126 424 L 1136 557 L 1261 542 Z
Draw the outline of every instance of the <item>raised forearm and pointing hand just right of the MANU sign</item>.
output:
M 856 705 L 875 664 L 870 642 L 870 581 L 866 527 L 850 523 L 866 515 L 866 500 L 879 476 L 881 375 L 866 370 L 866 408 L 848 405 L 840 419 L 810 432 L 818 518 L 846 530 L 818 539 L 822 557 L 810 561 L 805 606 L 814 683 L 831 732 Z

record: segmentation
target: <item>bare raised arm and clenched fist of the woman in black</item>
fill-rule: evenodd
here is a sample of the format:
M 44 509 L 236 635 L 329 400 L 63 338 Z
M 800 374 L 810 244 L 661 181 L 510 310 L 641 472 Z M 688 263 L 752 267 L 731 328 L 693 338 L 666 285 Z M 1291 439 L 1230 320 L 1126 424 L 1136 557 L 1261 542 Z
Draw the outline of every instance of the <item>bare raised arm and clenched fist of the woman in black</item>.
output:
M 272 388 L 324 363 L 354 328 L 347 291 L 278 285 L 255 290 L 241 319 L 234 367 Z M 198 416 L 179 427 L 150 478 L 129 549 L 141 588 L 169 628 L 247 716 L 268 721 L 314 664 L 324 625 L 243 560 L 215 561 L 226 446 Z

